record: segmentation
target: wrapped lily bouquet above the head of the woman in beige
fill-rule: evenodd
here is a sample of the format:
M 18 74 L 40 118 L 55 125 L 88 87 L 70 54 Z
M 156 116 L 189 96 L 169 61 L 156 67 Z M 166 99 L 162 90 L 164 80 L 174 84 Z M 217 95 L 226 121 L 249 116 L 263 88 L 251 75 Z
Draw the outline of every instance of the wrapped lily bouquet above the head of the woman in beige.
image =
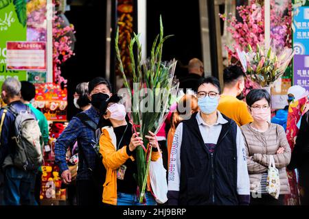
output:
M 256 52 L 249 44 L 247 53 L 239 50 L 237 53 L 244 73 L 263 88 L 273 85 L 284 74 L 294 55 L 293 49 L 288 47 L 277 50 L 270 47 L 266 51 L 259 44 Z

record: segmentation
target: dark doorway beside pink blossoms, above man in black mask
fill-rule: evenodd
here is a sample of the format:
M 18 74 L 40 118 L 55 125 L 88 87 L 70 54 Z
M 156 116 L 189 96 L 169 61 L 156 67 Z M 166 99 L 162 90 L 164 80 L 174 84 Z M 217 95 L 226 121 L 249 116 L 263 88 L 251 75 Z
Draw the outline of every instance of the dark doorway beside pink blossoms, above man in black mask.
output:
M 71 10 L 65 16 L 76 29 L 76 55 L 61 68 L 62 76 L 67 79 L 67 118 L 70 120 L 78 112 L 73 105 L 76 85 L 91 81 L 94 77 L 105 77 L 106 1 L 72 3 Z

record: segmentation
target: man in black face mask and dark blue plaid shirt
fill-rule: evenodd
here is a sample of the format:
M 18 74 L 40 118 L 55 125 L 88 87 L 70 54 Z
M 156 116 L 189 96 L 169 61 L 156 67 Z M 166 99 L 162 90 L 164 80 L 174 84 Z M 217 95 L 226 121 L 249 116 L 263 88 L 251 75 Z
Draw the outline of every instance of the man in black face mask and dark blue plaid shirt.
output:
M 71 172 L 67 166 L 66 153 L 70 145 L 78 141 L 78 172 L 76 177 L 77 204 L 78 205 L 102 205 L 103 187 L 100 181 L 93 177 L 98 168 L 98 154 L 95 151 L 98 145 L 98 136 L 95 131 L 98 128 L 101 117 L 101 109 L 106 107 L 111 96 L 111 83 L 103 77 L 96 77 L 89 82 L 89 110 L 74 116 L 69 125 L 61 133 L 55 143 L 55 162 L 60 168 L 62 182 L 71 183 Z M 87 121 L 87 123 L 86 123 Z

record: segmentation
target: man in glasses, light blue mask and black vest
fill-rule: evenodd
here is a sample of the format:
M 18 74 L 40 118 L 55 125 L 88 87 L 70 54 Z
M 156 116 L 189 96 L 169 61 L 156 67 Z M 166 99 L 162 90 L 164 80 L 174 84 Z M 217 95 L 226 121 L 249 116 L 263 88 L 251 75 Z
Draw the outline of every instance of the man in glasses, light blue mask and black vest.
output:
M 218 110 L 220 83 L 198 83 L 198 107 L 176 128 L 168 172 L 169 205 L 249 205 L 244 140 L 236 123 Z

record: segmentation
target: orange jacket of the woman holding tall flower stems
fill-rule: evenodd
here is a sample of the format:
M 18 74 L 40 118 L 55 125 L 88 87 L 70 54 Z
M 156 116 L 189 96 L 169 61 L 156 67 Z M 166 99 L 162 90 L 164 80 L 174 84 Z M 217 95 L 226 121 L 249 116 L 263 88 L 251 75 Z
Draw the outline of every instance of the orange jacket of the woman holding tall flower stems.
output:
M 116 151 L 116 136 L 113 127 L 103 127 L 100 136 L 100 153 L 103 157 L 103 164 L 106 168 L 106 179 L 103 185 L 103 203 L 117 205 L 117 169 L 126 162 L 127 159 L 135 159 L 126 153 L 126 147 Z M 159 159 L 159 152 L 153 152 L 152 161 Z

